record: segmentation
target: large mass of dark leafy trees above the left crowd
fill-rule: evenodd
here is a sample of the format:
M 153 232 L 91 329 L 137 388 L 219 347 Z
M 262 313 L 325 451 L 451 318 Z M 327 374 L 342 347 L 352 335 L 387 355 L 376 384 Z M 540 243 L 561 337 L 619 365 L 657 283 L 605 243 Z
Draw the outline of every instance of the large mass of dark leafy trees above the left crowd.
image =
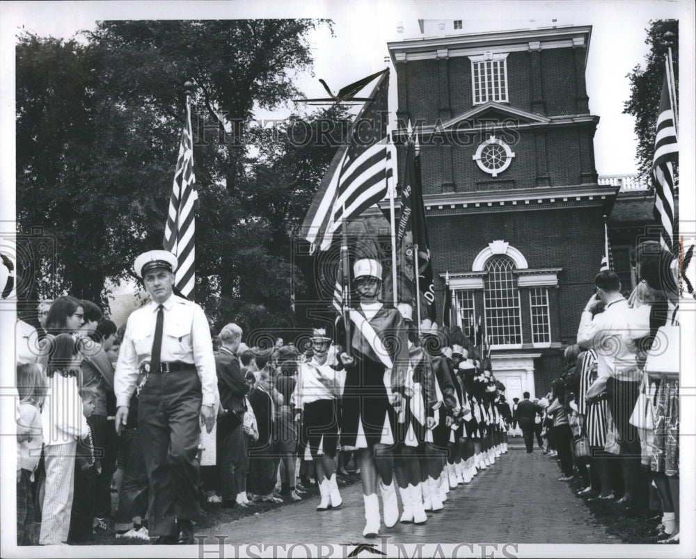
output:
M 255 105 L 298 95 L 292 72 L 310 67 L 317 23 L 102 22 L 86 44 L 22 35 L 17 227 L 58 240 L 58 279 L 45 294 L 98 301 L 107 279 L 133 277 L 136 255 L 161 248 L 191 79 L 196 300 L 215 325 L 290 325 L 290 233 L 333 151 L 278 140 L 257 161 L 254 133 L 204 141 L 196 115 L 246 122 Z

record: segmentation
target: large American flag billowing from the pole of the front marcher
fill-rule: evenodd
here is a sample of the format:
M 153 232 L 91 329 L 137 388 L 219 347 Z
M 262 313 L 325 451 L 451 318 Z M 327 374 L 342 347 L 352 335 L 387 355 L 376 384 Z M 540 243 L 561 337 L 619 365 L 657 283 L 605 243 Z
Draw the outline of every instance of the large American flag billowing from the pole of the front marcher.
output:
M 310 252 L 329 250 L 342 220 L 349 222 L 387 193 L 396 151 L 387 142 L 389 71 L 385 70 L 335 154 L 302 224 Z

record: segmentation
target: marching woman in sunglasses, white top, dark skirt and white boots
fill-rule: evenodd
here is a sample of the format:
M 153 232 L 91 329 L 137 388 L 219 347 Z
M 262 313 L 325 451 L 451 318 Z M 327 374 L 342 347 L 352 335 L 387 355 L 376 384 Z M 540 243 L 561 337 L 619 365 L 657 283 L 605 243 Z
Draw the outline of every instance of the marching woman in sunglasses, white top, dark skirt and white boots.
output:
M 322 496 L 317 510 L 328 510 L 343 504 L 333 463 L 338 446 L 341 382 L 335 352 L 329 356 L 331 338 L 326 336 L 326 329 L 315 328 L 310 343 L 313 355 L 299 366 L 295 420 L 302 426 L 300 441 L 305 460 L 315 463 Z

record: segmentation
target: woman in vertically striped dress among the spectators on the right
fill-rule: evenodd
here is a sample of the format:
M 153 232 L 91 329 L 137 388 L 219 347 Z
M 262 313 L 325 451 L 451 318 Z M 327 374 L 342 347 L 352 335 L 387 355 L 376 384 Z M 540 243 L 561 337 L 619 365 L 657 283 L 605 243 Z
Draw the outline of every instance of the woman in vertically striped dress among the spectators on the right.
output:
M 585 394 L 597 378 L 597 353 L 590 349 L 578 355 L 578 367 L 580 372 L 580 390 L 578 391 L 578 414 L 580 425 L 590 440 L 592 450 L 591 464 L 599 475 L 602 484 L 599 499 L 613 499 L 611 485 L 610 458 L 604 451 L 607 437 L 607 401 L 599 400 L 596 403 L 587 403 Z

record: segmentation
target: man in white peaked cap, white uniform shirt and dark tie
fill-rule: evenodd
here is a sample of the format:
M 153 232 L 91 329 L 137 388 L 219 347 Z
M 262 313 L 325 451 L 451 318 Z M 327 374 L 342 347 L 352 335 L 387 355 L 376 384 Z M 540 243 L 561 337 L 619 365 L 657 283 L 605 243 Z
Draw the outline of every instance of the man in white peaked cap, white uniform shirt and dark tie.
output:
M 148 531 L 157 544 L 193 544 L 198 501 L 199 417 L 211 432 L 217 375 L 203 309 L 173 294 L 176 257 L 166 250 L 141 254 L 134 269 L 152 302 L 128 318 L 114 392 L 116 432 L 139 389 L 139 431 L 150 483 Z

